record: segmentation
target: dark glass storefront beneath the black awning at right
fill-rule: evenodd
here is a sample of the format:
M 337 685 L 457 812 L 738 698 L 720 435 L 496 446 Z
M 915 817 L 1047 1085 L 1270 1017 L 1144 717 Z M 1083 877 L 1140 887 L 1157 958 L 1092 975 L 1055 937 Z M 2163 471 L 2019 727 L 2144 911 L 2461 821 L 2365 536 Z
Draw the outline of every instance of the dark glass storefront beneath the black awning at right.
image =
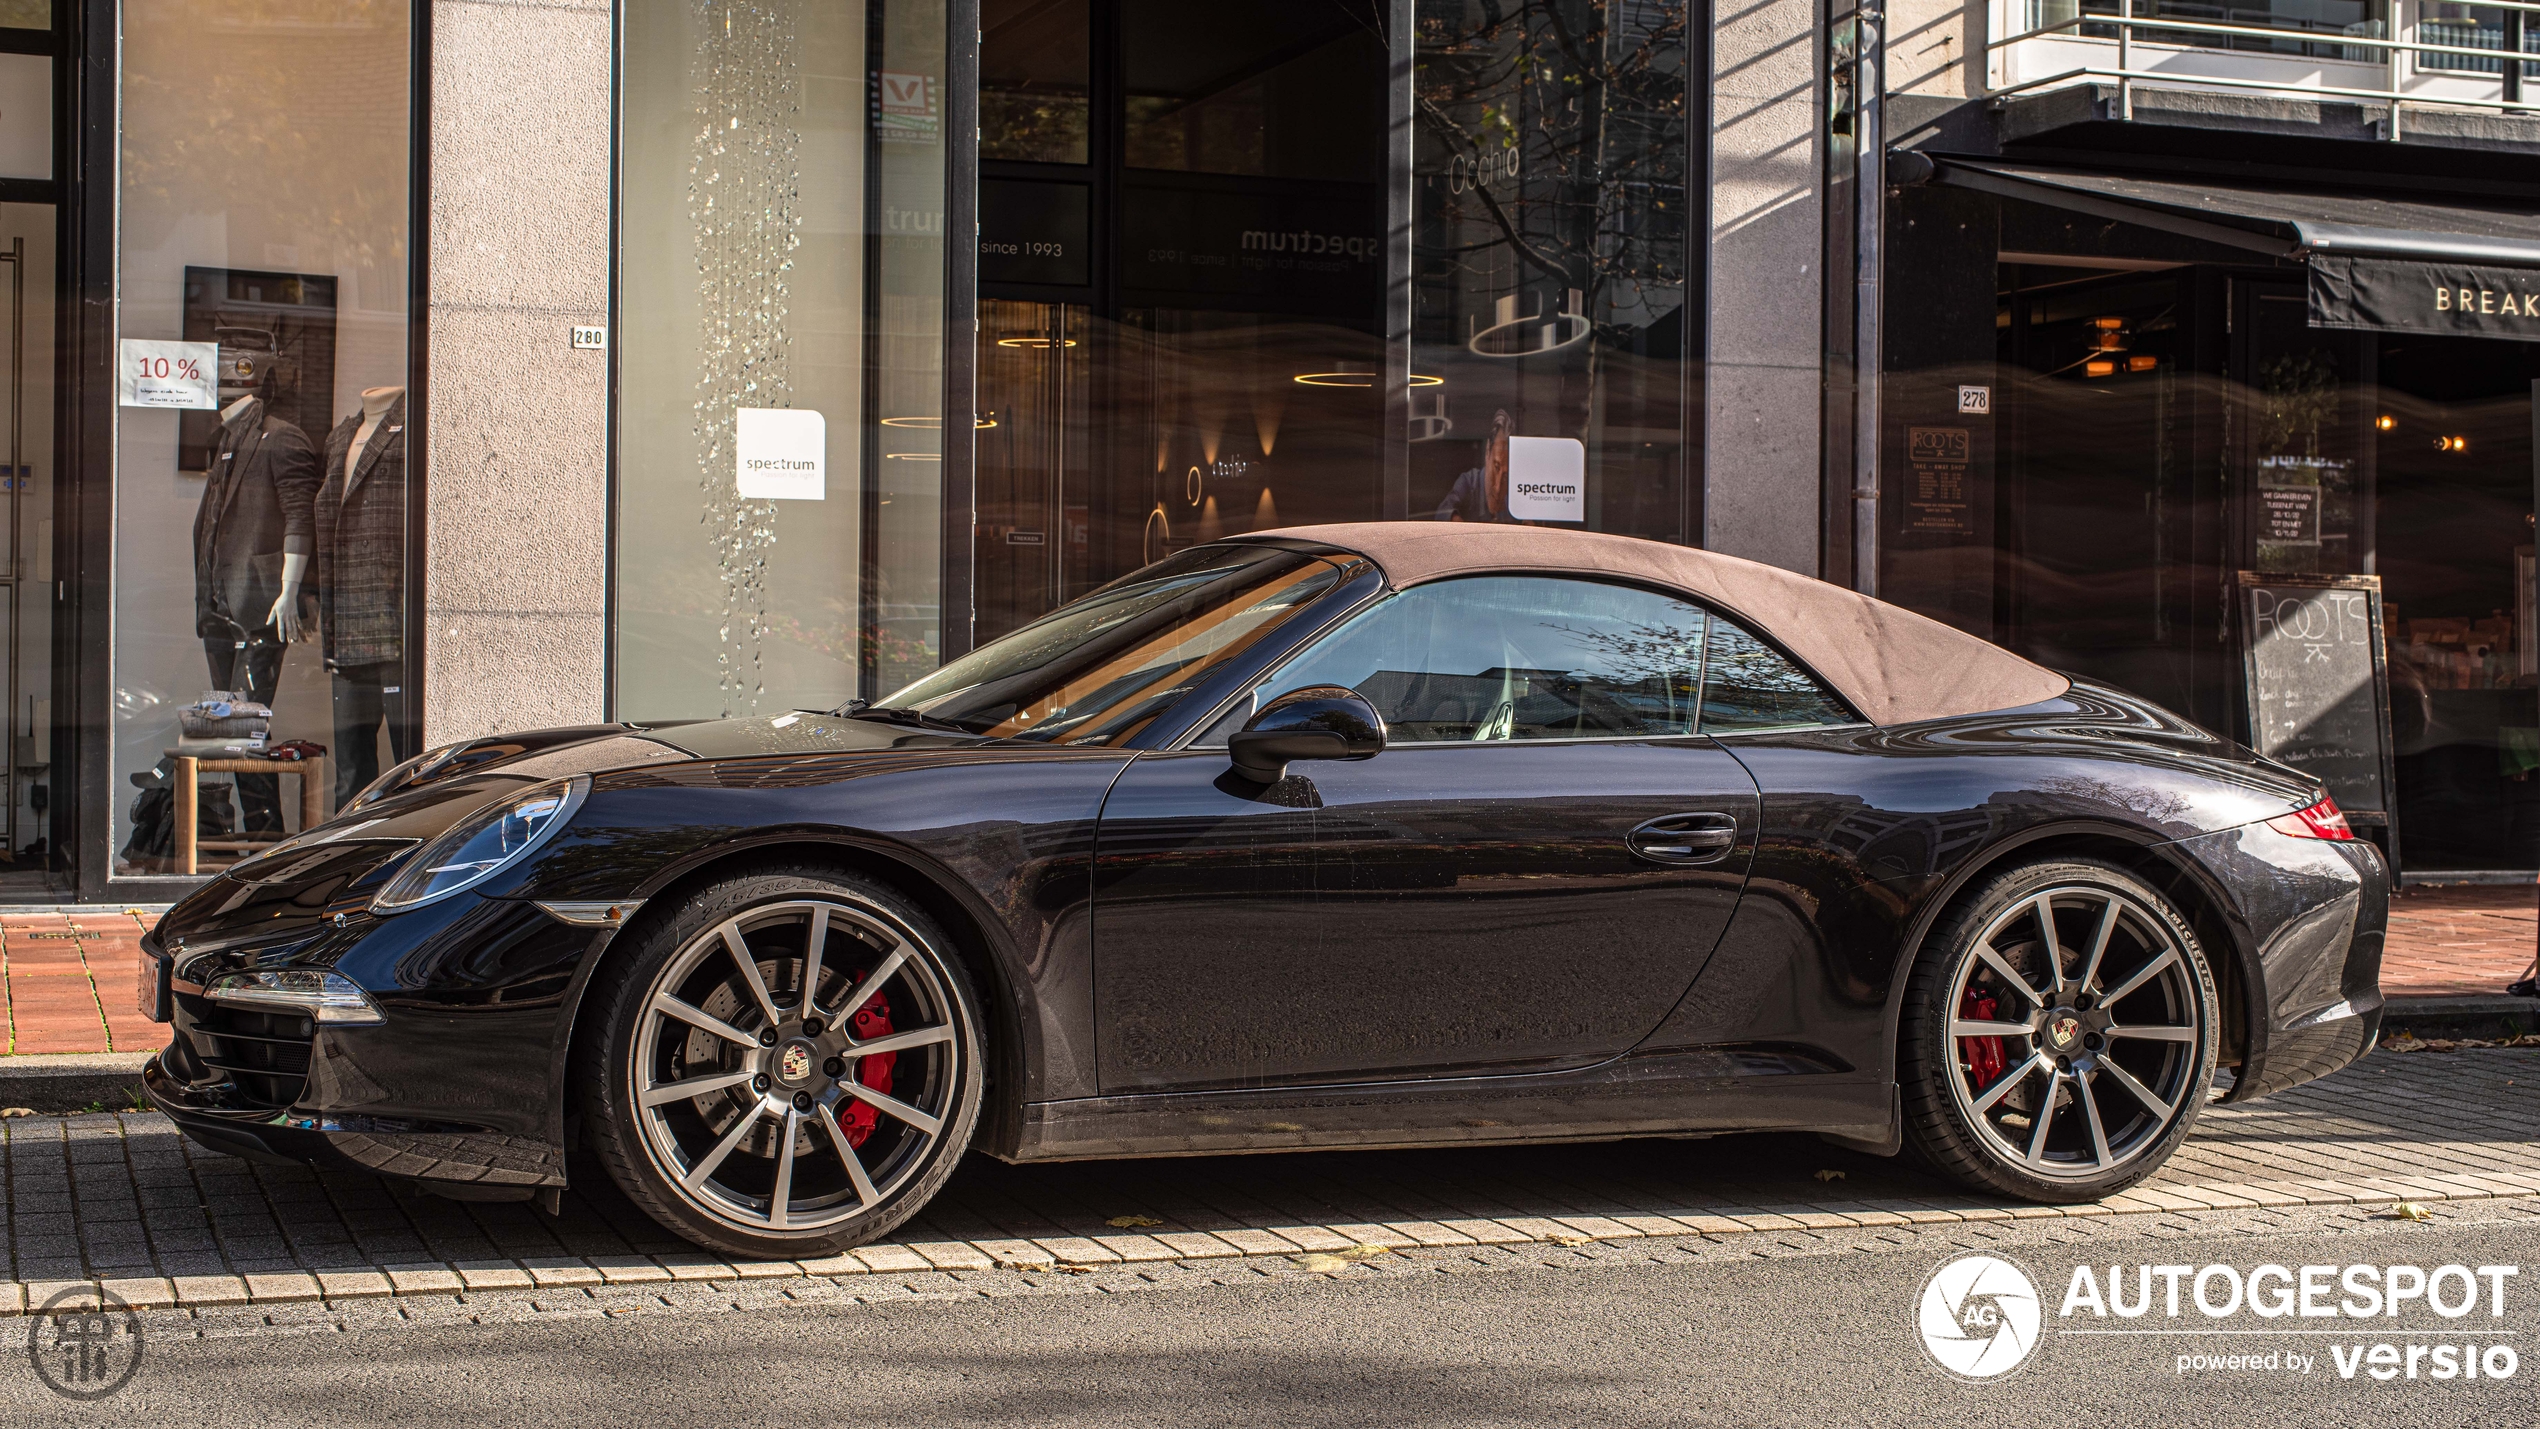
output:
M 1923 282 L 1887 315 L 1880 594 L 2253 744 L 2314 698 L 2253 655 L 2266 602 L 2377 604 L 2339 675 L 2390 774 L 2357 825 L 2413 873 L 2540 868 L 2540 345 L 2322 325 L 2299 264 L 2012 198 L 1902 190 L 1890 264 Z

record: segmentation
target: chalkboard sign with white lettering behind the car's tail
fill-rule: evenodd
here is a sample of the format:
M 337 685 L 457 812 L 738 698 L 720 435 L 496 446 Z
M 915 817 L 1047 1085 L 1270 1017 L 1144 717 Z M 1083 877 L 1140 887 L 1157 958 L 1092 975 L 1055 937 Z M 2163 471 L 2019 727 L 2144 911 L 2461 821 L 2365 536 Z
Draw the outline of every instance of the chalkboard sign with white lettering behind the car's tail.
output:
M 2250 746 L 2316 774 L 2365 827 L 2390 822 L 2380 576 L 2240 571 Z

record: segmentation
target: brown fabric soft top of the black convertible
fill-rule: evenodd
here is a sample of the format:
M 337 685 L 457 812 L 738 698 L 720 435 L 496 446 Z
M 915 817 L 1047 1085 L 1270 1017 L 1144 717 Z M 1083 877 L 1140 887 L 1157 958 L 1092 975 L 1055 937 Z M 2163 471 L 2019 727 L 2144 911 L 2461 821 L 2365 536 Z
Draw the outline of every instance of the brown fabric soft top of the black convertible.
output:
M 1356 520 L 1255 536 L 1356 551 L 1394 589 L 1494 571 L 1605 574 L 1676 589 L 1778 640 L 1872 723 L 2004 711 L 2073 688 L 2045 665 L 1910 609 L 1692 546 L 1460 520 Z

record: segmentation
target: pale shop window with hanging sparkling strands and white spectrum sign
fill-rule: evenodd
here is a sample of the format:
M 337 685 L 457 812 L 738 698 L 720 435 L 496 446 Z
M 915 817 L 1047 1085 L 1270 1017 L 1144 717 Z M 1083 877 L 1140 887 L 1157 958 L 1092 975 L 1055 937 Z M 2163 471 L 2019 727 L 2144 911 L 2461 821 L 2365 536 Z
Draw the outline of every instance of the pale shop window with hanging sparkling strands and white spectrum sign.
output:
M 617 711 L 894 690 L 942 657 L 942 5 L 638 0 L 622 41 Z M 1064 63 L 1001 74 L 1064 147 Z

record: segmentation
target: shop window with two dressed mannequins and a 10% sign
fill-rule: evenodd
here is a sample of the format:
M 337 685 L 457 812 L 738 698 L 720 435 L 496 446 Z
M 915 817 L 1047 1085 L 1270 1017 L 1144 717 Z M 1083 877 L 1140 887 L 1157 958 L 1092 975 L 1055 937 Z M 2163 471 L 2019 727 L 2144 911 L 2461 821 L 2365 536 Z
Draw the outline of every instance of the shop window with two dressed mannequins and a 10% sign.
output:
M 183 876 L 414 744 L 409 5 L 130 0 L 119 58 L 114 873 Z

